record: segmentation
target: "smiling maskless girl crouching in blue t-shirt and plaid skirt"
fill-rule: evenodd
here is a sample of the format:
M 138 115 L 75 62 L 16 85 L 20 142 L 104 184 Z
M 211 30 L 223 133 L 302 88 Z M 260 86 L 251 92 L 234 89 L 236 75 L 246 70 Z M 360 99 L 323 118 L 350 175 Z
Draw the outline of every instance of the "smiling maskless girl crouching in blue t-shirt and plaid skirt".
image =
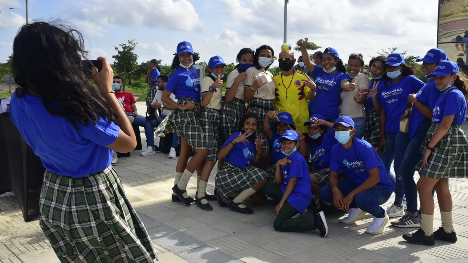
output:
M 256 136 L 257 125 L 258 117 L 255 114 L 244 115 L 239 131 L 227 139 L 218 153 L 218 159 L 225 160 L 216 174 L 218 203 L 226 207 L 225 199 L 241 191 L 230 202 L 229 209 L 242 214 L 253 213 L 242 202 L 268 183 L 268 174 L 254 166 L 260 161 L 264 143 L 264 140 L 260 140 L 260 135 Z

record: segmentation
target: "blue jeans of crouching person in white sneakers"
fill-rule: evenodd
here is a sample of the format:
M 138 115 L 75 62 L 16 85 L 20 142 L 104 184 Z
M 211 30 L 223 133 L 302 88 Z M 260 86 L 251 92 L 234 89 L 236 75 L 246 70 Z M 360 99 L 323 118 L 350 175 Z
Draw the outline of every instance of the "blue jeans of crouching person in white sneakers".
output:
M 346 197 L 352 190 L 358 188 L 359 185 L 361 184 L 346 178 L 338 182 L 338 189 L 343 194 L 343 197 Z M 320 188 L 319 196 L 323 202 L 333 204 L 333 193 L 329 184 Z M 380 205 L 385 204 L 390 196 L 391 193 L 387 188 L 376 184 L 371 189 L 358 193 L 349 208 L 359 207 L 362 211 L 366 211 L 376 218 L 382 218 L 385 215 L 385 210 Z

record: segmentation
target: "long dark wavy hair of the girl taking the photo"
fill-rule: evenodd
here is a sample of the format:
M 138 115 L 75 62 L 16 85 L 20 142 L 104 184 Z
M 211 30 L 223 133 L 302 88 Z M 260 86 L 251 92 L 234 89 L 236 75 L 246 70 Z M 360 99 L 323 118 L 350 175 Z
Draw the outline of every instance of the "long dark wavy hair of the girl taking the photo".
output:
M 61 21 L 24 25 L 13 42 L 12 68 L 20 86 L 16 95 L 36 93 L 47 111 L 66 118 L 77 130 L 77 122 L 97 124 L 99 117 L 113 121 L 109 102 L 82 70 L 86 54 L 81 33 Z

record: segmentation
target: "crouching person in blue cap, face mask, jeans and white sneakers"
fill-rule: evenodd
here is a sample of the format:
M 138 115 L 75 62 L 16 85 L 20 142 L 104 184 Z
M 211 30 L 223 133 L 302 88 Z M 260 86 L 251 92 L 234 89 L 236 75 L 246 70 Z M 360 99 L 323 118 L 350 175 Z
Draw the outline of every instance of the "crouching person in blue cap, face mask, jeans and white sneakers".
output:
M 331 149 L 329 184 L 320 189 L 320 198 L 349 211 L 341 220 L 344 224 L 354 224 L 366 213 L 372 214 L 374 219 L 366 233 L 381 234 L 388 215 L 380 205 L 388 201 L 395 185 L 373 146 L 354 138 L 356 130 L 351 117 L 338 117 L 333 129 L 339 144 Z M 343 171 L 345 179 L 338 183 L 339 171 Z

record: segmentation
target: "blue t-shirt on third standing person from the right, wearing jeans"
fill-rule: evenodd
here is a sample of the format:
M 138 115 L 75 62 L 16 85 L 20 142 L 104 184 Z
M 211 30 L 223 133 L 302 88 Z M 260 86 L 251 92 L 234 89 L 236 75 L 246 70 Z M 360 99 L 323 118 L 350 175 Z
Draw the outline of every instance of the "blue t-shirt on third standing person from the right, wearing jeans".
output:
M 423 86 L 424 82 L 414 75 L 403 77 L 398 83 L 386 81 L 379 84 L 377 100 L 387 116 L 386 132 L 400 131 L 400 119 L 403 109 L 408 105 L 408 95 L 417 93 Z

